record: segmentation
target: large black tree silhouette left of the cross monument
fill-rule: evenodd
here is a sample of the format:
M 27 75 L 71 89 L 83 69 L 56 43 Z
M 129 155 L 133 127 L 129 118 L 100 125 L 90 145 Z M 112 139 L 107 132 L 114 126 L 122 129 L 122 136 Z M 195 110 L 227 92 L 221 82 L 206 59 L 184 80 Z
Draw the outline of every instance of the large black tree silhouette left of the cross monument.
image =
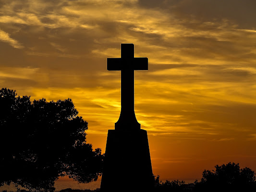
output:
M 47 102 L 0 90 L 0 186 L 13 182 L 30 191 L 54 191 L 54 181 L 69 176 L 97 180 L 101 149 L 85 141 L 87 122 L 70 98 Z

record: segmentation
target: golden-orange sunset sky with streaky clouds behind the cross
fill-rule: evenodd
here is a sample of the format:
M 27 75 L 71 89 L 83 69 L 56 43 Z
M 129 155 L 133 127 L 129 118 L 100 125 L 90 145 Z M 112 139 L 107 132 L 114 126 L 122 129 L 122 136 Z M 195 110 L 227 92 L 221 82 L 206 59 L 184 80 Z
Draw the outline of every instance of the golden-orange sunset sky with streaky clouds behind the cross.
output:
M 200 179 L 235 162 L 256 171 L 255 0 L 0 0 L 0 88 L 72 98 L 87 142 L 105 152 L 121 109 L 121 43 L 135 71 L 135 114 L 153 173 Z M 63 141 L 64 142 L 64 141 Z

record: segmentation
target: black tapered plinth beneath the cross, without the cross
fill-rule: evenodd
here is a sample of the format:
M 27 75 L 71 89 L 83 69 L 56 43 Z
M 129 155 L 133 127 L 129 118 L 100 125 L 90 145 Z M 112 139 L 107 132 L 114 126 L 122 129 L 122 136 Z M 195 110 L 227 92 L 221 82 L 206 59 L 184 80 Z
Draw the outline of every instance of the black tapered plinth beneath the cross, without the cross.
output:
M 151 192 L 153 173 L 145 130 L 109 130 L 100 192 Z

